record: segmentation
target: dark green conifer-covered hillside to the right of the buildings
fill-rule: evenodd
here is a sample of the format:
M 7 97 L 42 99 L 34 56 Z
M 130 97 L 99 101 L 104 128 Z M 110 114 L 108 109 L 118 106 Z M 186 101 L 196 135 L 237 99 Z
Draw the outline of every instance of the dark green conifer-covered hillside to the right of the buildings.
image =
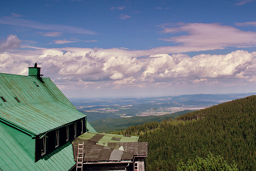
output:
M 256 96 L 115 133 L 149 143 L 147 171 L 176 171 L 181 160 L 206 158 L 209 152 L 234 161 L 240 171 L 256 171 Z

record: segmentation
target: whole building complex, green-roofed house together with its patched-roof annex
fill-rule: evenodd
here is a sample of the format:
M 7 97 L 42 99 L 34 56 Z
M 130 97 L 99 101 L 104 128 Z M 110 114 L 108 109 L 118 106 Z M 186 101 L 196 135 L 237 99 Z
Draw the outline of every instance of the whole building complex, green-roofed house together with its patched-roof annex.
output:
M 29 76 L 0 73 L 0 171 L 145 170 L 147 142 L 97 134 L 40 69 L 35 63 Z

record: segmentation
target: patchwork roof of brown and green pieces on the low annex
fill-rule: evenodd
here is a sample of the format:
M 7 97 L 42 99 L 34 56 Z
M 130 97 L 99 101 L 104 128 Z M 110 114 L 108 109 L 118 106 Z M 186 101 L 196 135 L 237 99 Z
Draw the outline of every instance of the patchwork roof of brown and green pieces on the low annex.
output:
M 136 136 L 85 133 L 72 142 L 74 160 L 77 157 L 78 142 L 84 142 L 84 163 L 130 163 L 134 155 L 148 155 L 148 143 L 138 142 L 138 139 Z

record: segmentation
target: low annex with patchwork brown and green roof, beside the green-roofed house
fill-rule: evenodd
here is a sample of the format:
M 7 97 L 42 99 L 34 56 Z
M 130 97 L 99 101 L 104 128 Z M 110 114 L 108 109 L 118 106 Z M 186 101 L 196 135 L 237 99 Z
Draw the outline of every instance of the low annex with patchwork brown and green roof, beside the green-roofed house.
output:
M 74 160 L 82 148 L 81 168 L 77 171 L 145 171 L 148 143 L 139 137 L 85 133 L 73 143 Z M 78 163 L 79 164 L 79 163 Z M 77 165 L 79 166 L 79 165 Z

